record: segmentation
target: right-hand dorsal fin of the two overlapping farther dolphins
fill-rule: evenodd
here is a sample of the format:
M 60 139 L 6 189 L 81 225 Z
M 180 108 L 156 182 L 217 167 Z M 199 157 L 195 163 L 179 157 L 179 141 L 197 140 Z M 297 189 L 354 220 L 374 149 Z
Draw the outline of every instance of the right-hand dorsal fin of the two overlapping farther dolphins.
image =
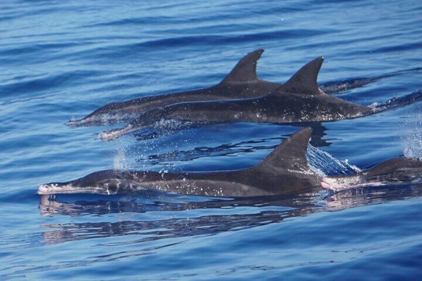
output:
M 321 94 L 322 91 L 319 90 L 317 78 L 323 61 L 323 57 L 310 61 L 272 94 Z

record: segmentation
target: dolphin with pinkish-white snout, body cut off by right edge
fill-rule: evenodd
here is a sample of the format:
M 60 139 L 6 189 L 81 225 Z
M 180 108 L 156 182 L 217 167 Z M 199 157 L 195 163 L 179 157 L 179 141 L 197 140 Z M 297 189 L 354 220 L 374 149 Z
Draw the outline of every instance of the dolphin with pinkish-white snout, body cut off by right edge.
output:
M 321 187 L 341 191 L 359 187 L 377 187 L 422 183 L 422 161 L 405 157 L 393 158 L 374 167 L 347 176 L 325 177 Z

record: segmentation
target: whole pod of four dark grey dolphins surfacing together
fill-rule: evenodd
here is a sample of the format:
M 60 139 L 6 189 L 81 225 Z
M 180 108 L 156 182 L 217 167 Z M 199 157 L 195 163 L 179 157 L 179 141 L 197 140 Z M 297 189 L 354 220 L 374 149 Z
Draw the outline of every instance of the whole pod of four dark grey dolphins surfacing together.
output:
M 111 119 L 118 119 L 122 114 L 137 116 L 122 129 L 103 132 L 102 138 L 107 141 L 163 120 L 281 124 L 324 122 L 366 116 L 422 99 L 420 90 L 369 107 L 326 94 L 317 84 L 322 57 L 306 64 L 285 84 L 259 80 L 256 63 L 262 52 L 249 53 L 221 83 L 211 88 L 110 103 L 86 118 L 68 124 L 94 124 L 101 121 L 105 114 Z M 369 82 L 362 80 L 361 85 Z M 321 188 L 340 191 L 365 186 L 419 184 L 422 181 L 422 162 L 403 157 L 387 160 L 352 175 L 321 177 L 306 159 L 311 134 L 312 129 L 308 127 L 294 133 L 265 159 L 248 169 L 170 173 L 105 170 L 74 181 L 41 185 L 37 193 L 109 195 L 154 189 L 188 195 L 251 197 Z

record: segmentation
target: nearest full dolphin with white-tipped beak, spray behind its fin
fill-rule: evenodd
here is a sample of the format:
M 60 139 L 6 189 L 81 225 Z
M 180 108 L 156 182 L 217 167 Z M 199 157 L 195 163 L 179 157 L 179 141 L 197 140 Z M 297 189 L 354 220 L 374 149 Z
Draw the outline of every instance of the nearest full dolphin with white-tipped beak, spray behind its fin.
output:
M 170 173 L 105 170 L 75 181 L 41 185 L 37 193 L 117 194 L 155 189 L 187 195 L 251 197 L 320 189 L 321 178 L 305 156 L 311 133 L 311 128 L 294 133 L 248 169 Z

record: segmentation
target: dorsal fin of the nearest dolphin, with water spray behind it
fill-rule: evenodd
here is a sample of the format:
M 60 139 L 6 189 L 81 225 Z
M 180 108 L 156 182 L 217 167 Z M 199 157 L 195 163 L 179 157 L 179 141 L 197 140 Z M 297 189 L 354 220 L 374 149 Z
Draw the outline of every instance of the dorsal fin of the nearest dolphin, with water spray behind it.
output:
M 307 127 L 294 133 L 279 144 L 266 158 L 253 169 L 289 169 L 291 171 L 307 171 L 306 150 L 311 138 L 312 129 Z

